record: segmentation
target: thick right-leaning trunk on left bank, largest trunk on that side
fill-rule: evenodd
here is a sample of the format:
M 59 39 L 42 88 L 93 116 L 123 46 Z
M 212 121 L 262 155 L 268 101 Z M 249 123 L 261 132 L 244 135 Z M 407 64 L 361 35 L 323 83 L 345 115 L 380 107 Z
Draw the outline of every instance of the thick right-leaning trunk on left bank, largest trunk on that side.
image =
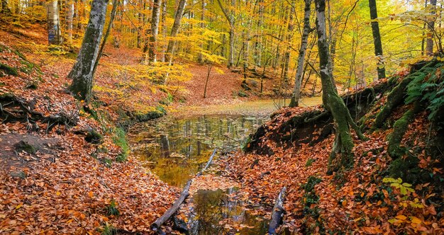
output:
M 82 41 L 77 62 L 72 67 L 68 77 L 72 79 L 69 90 L 74 97 L 89 101 L 91 98 L 92 76 L 96 62 L 101 36 L 106 18 L 107 0 L 93 0 L 87 30 Z

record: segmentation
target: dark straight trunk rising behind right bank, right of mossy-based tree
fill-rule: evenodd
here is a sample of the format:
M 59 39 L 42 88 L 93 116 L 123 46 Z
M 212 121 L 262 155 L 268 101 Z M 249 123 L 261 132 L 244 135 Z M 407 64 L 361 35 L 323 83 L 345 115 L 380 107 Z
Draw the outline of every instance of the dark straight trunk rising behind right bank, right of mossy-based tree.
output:
M 374 55 L 377 57 L 377 71 L 378 79 L 385 78 L 384 57 L 382 55 L 381 35 L 379 34 L 379 23 L 377 21 L 378 13 L 376 7 L 376 0 L 369 0 L 370 19 L 372 20 L 372 33 L 374 44 Z

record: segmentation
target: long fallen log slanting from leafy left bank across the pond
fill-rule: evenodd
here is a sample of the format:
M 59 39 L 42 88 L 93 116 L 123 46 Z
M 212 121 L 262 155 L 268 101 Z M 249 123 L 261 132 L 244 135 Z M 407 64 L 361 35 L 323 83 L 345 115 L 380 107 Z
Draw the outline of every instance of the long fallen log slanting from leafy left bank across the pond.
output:
M 205 167 L 202 168 L 201 171 L 199 171 L 199 173 L 196 174 L 196 177 L 201 176 L 202 173 L 206 170 L 206 168 L 208 168 L 210 166 L 211 162 L 213 161 L 213 157 L 216 154 L 216 151 L 217 151 L 217 148 L 214 149 L 213 154 L 211 154 Z M 182 193 L 180 193 L 179 198 L 177 198 L 177 200 L 173 203 L 173 205 L 170 207 L 170 209 L 168 209 L 164 214 L 162 214 L 161 217 L 156 219 L 156 221 L 151 224 L 150 228 L 152 231 L 157 231 L 157 234 L 159 234 L 159 231 L 162 231 L 159 229 L 162 226 L 162 224 L 167 222 L 168 219 L 170 219 L 172 217 L 172 215 L 175 214 L 177 212 L 177 210 L 179 210 L 180 205 L 182 205 L 184 200 L 189 196 L 188 190 L 189 190 L 189 187 L 192 185 L 192 180 L 193 179 L 191 178 L 187 181 L 187 185 L 185 185 L 184 189 L 182 190 Z

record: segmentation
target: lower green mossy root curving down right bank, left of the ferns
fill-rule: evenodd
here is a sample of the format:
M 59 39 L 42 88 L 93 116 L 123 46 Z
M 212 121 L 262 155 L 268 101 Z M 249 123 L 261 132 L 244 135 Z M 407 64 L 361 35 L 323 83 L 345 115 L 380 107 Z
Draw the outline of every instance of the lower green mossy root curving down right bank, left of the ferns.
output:
M 406 149 L 400 147 L 401 140 L 406 133 L 407 127 L 409 127 L 409 123 L 414 118 L 414 111 L 408 110 L 404 115 L 394 122 L 393 132 L 389 136 L 389 144 L 387 147 L 387 151 L 392 159 L 398 159 L 401 156 L 406 154 Z

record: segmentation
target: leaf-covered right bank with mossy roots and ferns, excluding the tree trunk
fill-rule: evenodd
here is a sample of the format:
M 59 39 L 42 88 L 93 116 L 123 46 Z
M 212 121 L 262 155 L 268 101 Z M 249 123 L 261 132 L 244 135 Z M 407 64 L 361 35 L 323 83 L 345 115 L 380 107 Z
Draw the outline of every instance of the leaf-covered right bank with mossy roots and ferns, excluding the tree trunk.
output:
M 354 136 L 353 168 L 328 173 L 333 120 L 321 106 L 284 108 L 224 160 L 226 176 L 269 215 L 287 186 L 280 231 L 443 234 L 442 69 L 433 61 L 343 96 L 367 137 Z

